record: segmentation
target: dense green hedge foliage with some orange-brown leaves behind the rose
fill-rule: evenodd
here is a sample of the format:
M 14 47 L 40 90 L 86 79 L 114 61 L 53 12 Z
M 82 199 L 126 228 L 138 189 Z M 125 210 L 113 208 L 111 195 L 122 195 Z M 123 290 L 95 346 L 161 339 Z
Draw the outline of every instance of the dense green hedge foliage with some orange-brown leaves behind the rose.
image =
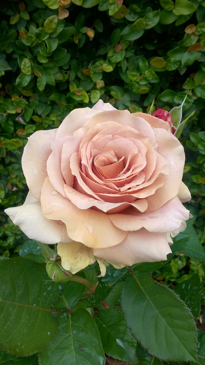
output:
M 205 1 L 1 0 L 0 204 L 22 204 L 21 154 L 36 130 L 103 99 L 120 110 L 172 109 L 186 93 L 184 181 L 205 242 Z M 3 213 L 0 254 L 28 240 Z

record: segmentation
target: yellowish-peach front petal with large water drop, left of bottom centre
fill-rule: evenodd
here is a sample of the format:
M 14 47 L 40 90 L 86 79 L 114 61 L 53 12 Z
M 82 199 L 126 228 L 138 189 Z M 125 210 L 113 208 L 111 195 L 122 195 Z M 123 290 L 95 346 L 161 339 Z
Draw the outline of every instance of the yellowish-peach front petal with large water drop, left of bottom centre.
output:
M 52 190 L 47 177 L 41 189 L 42 213 L 47 219 L 65 223 L 73 241 L 99 248 L 117 245 L 125 239 L 127 232 L 115 227 L 107 214 L 79 209 L 61 194 L 52 195 Z

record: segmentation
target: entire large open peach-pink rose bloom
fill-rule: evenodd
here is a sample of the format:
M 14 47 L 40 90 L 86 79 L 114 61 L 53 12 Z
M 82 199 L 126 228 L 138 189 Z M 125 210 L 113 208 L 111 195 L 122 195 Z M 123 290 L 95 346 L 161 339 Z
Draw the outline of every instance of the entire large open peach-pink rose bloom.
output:
M 190 200 L 185 156 L 169 123 L 99 100 L 71 111 L 57 129 L 28 138 L 25 203 L 5 212 L 30 238 L 58 242 L 72 273 L 98 260 L 133 265 L 166 260 Z

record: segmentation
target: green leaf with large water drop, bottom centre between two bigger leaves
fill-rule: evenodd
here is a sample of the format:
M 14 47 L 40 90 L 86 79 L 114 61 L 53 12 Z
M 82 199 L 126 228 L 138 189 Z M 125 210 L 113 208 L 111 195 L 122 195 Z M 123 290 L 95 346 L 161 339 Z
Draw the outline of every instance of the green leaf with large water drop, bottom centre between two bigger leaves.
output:
M 96 318 L 103 350 L 121 361 L 133 361 L 137 341 L 131 335 L 121 308 L 100 311 Z

